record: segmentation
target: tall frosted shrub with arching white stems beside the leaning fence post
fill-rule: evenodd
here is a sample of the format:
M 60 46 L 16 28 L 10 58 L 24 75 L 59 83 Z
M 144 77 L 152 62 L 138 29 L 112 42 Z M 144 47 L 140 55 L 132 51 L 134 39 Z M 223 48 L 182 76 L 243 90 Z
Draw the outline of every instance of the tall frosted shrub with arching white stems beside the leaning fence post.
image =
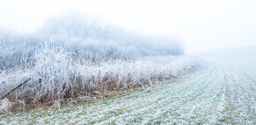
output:
M 32 68 L 37 75 L 38 82 L 33 89 L 38 100 L 47 102 L 67 97 L 66 93 L 72 88 L 70 77 L 77 64 L 75 59 L 74 54 L 67 53 L 57 42 L 47 41 L 45 47 L 38 44 L 35 57 L 26 63 L 26 67 Z

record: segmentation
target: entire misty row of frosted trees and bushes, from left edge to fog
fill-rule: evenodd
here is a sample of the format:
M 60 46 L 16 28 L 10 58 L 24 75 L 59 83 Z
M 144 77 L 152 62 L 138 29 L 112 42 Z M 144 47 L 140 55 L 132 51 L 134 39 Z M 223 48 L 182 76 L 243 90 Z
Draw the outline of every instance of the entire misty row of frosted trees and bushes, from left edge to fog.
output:
M 21 56 L 52 39 L 67 52 L 84 58 L 124 58 L 183 54 L 170 36 L 145 36 L 111 23 L 102 16 L 69 11 L 46 18 L 33 33 L 0 27 L 0 71 L 21 64 Z M 33 51 L 29 51 L 33 56 Z

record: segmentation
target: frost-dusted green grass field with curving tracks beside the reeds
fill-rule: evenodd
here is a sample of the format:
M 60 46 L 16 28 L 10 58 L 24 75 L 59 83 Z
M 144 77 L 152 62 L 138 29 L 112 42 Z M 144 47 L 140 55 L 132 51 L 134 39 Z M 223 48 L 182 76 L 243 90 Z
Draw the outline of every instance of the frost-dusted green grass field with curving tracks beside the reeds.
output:
M 102 102 L 6 114 L 0 124 L 256 124 L 256 47 L 204 56 L 205 66 L 183 78 Z

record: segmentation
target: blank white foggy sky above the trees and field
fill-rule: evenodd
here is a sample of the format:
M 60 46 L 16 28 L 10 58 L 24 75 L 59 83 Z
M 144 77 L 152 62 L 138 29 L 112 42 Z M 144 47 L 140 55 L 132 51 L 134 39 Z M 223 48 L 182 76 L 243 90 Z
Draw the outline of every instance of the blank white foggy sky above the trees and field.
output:
M 8 0 L 0 2 L 0 25 L 34 30 L 43 18 L 73 8 L 145 34 L 176 36 L 190 54 L 256 44 L 255 0 Z

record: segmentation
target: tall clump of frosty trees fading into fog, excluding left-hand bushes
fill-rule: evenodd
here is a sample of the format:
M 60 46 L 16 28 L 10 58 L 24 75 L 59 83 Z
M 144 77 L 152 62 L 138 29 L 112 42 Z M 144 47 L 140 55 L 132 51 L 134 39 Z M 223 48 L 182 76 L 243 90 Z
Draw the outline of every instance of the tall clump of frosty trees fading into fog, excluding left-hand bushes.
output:
M 102 56 L 135 54 L 160 56 L 183 54 L 183 47 L 170 36 L 145 36 L 124 29 L 106 17 L 68 11 L 45 19 L 38 31 L 77 54 L 92 52 Z M 132 48 L 132 49 L 131 49 Z

